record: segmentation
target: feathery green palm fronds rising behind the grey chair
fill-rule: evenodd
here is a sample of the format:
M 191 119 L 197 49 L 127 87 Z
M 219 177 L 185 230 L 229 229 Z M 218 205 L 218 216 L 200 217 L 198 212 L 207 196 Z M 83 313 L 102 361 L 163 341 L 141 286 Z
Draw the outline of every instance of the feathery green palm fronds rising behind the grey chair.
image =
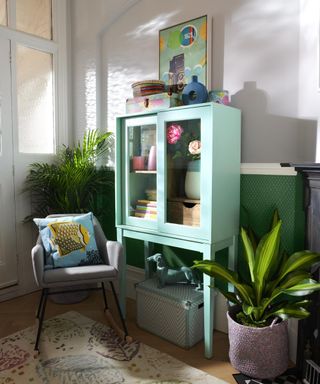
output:
M 74 147 L 59 148 L 53 163 L 31 164 L 24 191 L 31 194 L 33 212 L 26 220 L 51 213 L 93 211 L 97 215 L 97 194 L 114 184 L 113 172 L 97 167 L 111 140 L 111 132 L 90 130 Z

